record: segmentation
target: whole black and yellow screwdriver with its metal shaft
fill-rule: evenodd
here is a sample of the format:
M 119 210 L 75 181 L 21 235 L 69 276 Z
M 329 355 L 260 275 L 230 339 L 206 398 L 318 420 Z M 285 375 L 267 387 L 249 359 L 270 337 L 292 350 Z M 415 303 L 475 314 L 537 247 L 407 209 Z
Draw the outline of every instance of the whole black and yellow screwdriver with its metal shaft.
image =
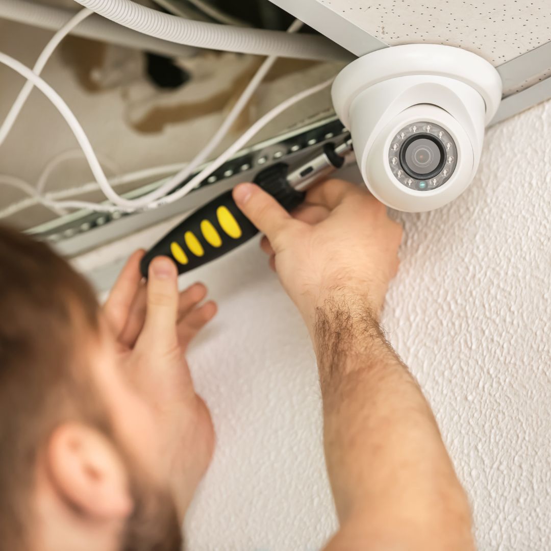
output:
M 300 166 L 290 168 L 285 163 L 274 164 L 259 172 L 253 182 L 290 212 L 304 201 L 307 188 L 341 168 L 351 152 L 350 138 L 337 146 L 329 142 L 323 145 L 321 153 L 303 161 Z M 193 212 L 157 242 L 142 259 L 142 275 L 147 277 L 149 264 L 156 256 L 174 259 L 178 273 L 182 274 L 252 239 L 258 229 L 237 207 L 231 191 L 222 193 Z

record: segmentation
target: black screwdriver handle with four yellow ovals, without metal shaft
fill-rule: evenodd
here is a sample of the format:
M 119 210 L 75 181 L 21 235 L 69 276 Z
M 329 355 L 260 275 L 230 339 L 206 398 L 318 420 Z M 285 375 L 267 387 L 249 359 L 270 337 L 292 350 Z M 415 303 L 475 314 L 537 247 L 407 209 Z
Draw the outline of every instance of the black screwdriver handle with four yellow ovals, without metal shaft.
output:
M 271 193 L 287 210 L 304 200 L 304 193 L 287 182 L 288 165 L 279 163 L 260 172 L 255 183 Z M 156 256 L 174 259 L 178 273 L 203 266 L 249 241 L 258 229 L 235 204 L 231 190 L 199 208 L 172 229 L 142 259 L 141 272 L 147 277 Z

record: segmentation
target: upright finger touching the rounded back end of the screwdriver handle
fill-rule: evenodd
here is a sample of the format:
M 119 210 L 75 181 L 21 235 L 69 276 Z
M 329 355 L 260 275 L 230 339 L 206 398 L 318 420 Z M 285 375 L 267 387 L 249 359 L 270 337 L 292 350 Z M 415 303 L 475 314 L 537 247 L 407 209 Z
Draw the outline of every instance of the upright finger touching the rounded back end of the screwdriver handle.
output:
M 171 348 L 177 342 L 178 283 L 174 262 L 159 256 L 149 264 L 147 281 L 147 314 L 141 339 L 147 346 Z

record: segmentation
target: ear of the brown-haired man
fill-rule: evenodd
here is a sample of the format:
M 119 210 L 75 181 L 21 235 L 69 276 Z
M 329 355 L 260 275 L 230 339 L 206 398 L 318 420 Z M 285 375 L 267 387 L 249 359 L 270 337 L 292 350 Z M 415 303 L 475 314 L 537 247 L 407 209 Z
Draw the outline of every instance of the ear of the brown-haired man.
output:
M 48 440 L 46 457 L 53 486 L 70 505 L 101 520 L 131 514 L 127 469 L 100 431 L 82 423 L 64 423 Z

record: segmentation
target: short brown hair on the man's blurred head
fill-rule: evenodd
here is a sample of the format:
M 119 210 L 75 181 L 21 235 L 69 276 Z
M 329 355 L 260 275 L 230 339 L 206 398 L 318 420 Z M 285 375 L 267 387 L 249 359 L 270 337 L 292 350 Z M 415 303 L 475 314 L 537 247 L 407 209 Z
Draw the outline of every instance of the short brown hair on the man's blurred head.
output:
M 46 244 L 0 226 L 0 533 L 6 549 L 26 547 L 23 519 L 41 445 L 67 415 L 71 397 L 90 392 L 80 332 L 98 332 L 98 324 L 98 302 L 84 278 Z

